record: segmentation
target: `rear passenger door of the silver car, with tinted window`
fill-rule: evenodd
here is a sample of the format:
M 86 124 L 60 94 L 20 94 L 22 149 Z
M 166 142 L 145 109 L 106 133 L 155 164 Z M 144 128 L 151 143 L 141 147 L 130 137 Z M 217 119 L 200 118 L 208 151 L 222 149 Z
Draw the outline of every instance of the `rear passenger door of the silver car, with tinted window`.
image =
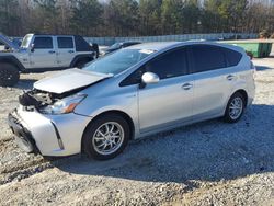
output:
M 235 81 L 233 67 L 227 67 L 222 47 L 193 45 L 192 72 L 194 77 L 193 117 L 207 118 L 224 112 Z

